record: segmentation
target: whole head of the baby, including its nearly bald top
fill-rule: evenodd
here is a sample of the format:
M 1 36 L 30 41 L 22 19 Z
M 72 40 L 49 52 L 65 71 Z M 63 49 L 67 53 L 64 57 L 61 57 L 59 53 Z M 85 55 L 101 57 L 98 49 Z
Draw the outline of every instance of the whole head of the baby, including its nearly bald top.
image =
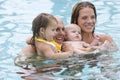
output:
M 81 41 L 81 29 L 76 24 L 68 24 L 65 26 L 66 41 Z

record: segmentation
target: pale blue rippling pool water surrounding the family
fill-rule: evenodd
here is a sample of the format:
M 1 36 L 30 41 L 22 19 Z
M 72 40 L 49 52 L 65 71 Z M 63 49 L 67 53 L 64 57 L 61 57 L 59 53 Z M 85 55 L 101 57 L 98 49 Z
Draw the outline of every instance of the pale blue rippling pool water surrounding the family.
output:
M 47 12 L 59 16 L 66 25 L 70 22 L 72 7 L 78 1 L 84 0 L 0 0 L 0 80 L 23 80 L 16 72 L 23 71 L 26 75 L 31 73 L 15 66 L 14 58 L 26 45 L 27 36 L 32 33 L 33 18 L 41 12 Z M 120 48 L 120 1 L 88 1 L 94 3 L 97 8 L 96 33 L 109 34 Z M 119 53 L 120 51 L 117 51 L 99 58 L 94 67 L 90 67 L 86 62 L 84 69 L 76 73 L 76 76 L 83 80 L 119 80 Z M 104 68 L 101 70 L 99 67 Z M 53 74 L 56 75 L 52 76 L 55 80 L 63 80 L 62 77 L 70 78 L 58 76 L 57 72 Z M 39 75 L 36 74 L 37 77 Z

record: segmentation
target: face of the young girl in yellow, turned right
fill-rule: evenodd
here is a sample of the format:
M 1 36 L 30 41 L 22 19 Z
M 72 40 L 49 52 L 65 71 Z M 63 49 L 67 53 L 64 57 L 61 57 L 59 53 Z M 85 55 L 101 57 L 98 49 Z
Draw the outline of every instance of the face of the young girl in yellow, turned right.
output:
M 44 38 L 48 41 L 53 40 L 53 37 L 56 35 L 57 22 L 52 21 L 50 25 L 44 30 Z

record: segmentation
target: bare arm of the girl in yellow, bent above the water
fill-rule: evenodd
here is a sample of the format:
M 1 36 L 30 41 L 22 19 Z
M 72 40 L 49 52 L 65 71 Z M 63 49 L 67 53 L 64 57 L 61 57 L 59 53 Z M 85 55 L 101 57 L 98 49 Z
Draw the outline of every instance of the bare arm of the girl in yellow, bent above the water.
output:
M 65 47 L 65 52 L 54 52 L 51 45 L 46 44 L 44 42 L 36 42 L 36 48 L 38 55 L 41 55 L 42 53 L 43 56 L 50 59 L 68 58 L 73 54 L 72 49 L 67 46 Z

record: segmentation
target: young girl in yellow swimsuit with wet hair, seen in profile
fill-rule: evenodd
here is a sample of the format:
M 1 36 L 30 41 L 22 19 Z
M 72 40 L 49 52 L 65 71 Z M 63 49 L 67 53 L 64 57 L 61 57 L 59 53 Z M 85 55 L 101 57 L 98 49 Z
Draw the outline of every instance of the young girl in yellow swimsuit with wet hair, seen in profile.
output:
M 67 58 L 73 51 L 66 48 L 61 52 L 61 46 L 53 40 L 57 29 L 57 20 L 50 14 L 41 13 L 32 22 L 32 44 L 35 46 L 37 55 L 45 59 Z

